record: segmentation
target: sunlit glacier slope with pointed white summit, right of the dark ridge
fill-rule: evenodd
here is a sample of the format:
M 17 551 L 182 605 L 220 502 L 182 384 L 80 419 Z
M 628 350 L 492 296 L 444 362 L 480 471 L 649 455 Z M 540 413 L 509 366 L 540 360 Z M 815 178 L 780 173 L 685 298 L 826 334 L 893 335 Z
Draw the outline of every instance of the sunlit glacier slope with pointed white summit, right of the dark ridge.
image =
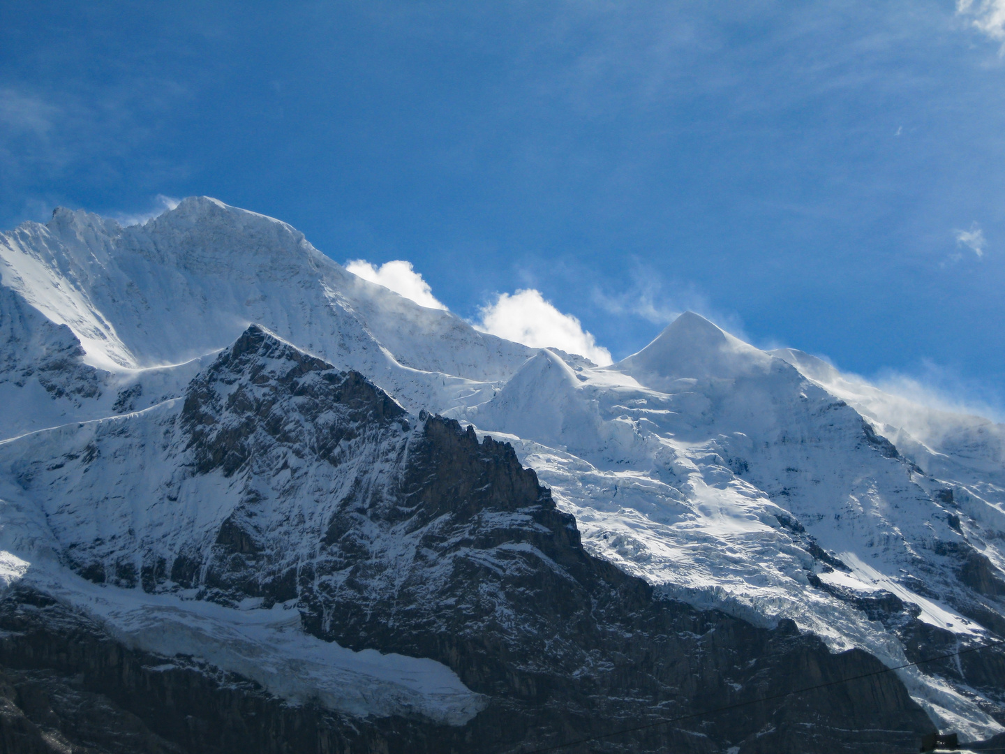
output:
M 677 598 L 890 665 L 1002 631 L 1001 491 L 954 498 L 844 401 L 696 315 L 611 367 L 536 357 L 465 416 L 513 435 L 591 552 Z M 981 737 L 1000 730 L 1005 670 L 982 663 L 996 670 L 904 680 Z

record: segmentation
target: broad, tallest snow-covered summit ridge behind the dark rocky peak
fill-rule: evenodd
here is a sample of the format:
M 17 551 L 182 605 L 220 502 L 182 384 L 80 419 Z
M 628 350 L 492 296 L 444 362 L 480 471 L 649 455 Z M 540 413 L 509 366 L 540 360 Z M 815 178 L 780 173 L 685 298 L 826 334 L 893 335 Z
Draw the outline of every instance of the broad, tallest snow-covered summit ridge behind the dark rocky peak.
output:
M 82 351 L 81 368 L 100 370 L 103 394 L 145 391 L 136 406 L 162 397 L 148 387 L 149 372 L 215 352 L 251 322 L 371 375 L 415 410 L 490 393 L 532 353 L 347 272 L 285 223 L 215 199 L 186 199 L 127 228 L 57 209 L 47 225 L 25 223 L 4 234 L 0 249 L 2 306 L 19 323 L 15 343 L 27 338 L 56 351 L 63 336 L 52 325 L 65 325 Z M 6 316 L 3 327 L 6 340 L 15 338 Z M 23 353 L 7 355 L 23 352 L 15 343 L 5 348 L 11 382 L 45 387 L 44 377 L 18 371 Z M 32 414 L 90 418 L 107 410 L 78 404 L 43 403 Z M 3 430 L 34 425 L 29 415 L 20 424 L 6 419 Z

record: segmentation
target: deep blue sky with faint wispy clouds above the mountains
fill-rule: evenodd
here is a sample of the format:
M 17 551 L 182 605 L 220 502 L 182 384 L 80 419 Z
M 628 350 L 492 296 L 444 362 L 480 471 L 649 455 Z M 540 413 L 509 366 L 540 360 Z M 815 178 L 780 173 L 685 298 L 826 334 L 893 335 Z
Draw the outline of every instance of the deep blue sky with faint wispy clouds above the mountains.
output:
M 615 358 L 694 309 L 1000 405 L 1003 43 L 1003 0 L 8 3 L 0 224 L 208 194 Z

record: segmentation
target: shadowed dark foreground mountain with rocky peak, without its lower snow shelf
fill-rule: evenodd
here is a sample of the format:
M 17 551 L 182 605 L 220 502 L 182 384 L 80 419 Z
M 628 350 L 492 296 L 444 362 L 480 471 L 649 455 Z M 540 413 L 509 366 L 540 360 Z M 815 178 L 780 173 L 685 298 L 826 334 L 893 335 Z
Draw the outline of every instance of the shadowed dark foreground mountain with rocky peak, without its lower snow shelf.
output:
M 198 646 L 151 651 L 121 616 L 47 595 L 29 570 L 0 603 L 11 751 L 521 751 L 762 698 L 569 750 L 903 749 L 931 729 L 892 674 L 777 699 L 882 666 L 791 621 L 769 630 L 658 598 L 584 550 L 509 443 L 408 417 L 257 326 L 170 409 L 62 442 L 62 465 L 30 443 L 2 460 L 97 593 L 284 603 L 308 635 L 436 661 L 480 701 L 447 725 L 292 703 Z M 123 457 L 146 459 L 136 479 L 103 465 Z M 110 514 L 110 490 L 129 491 L 132 515 Z

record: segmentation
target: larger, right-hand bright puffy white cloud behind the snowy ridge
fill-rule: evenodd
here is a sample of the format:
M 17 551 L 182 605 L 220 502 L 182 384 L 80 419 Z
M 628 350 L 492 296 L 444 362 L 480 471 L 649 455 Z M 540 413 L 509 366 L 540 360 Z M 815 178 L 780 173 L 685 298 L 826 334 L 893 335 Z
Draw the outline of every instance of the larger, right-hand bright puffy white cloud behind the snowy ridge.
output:
M 612 361 L 611 352 L 598 346 L 576 317 L 562 314 L 534 289 L 499 294 L 495 303 L 481 309 L 481 324 L 475 327 L 531 348 L 551 346 L 600 365 Z

